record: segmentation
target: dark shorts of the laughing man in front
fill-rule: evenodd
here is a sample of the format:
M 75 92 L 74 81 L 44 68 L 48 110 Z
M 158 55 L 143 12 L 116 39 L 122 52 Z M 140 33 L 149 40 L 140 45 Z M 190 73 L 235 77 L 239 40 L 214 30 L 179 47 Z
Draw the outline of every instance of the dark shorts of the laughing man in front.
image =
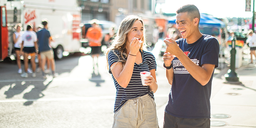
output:
M 188 119 L 164 112 L 164 128 L 210 128 L 209 118 Z

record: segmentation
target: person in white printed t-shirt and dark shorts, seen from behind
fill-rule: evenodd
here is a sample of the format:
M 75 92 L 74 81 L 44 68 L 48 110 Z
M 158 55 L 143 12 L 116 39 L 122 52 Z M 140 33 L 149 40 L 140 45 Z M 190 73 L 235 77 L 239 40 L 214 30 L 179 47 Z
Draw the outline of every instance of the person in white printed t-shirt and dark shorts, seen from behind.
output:
M 36 33 L 33 31 L 33 25 L 28 24 L 27 31 L 22 35 L 22 43 L 20 52 L 24 52 L 24 69 L 25 71 L 20 75 L 21 77 L 28 77 L 28 54 L 31 55 L 31 65 L 32 65 L 32 77 L 36 77 L 36 62 L 35 62 L 35 55 L 38 52 L 37 47 L 37 36 Z

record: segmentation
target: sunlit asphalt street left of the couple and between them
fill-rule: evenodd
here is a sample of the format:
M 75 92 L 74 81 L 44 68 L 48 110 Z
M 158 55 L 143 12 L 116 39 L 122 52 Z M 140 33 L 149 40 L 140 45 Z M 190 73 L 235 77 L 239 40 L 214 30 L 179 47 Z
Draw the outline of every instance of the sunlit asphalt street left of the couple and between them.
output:
M 163 116 L 171 86 L 163 61 L 157 65 L 155 102 Z M 0 62 L 0 128 L 111 127 L 116 89 L 105 56 L 99 57 L 98 67 L 93 69 L 90 55 L 69 55 L 56 60 L 59 76 L 43 80 L 42 73 L 20 77 L 15 61 Z

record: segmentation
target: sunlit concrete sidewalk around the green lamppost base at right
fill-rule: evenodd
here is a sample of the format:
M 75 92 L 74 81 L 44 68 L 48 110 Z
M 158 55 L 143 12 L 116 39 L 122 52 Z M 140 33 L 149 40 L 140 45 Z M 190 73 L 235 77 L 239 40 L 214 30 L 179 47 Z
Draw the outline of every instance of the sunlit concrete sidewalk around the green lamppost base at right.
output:
M 256 127 L 256 64 L 237 68 L 242 84 L 227 83 L 223 70 L 215 69 L 211 94 L 211 127 Z M 157 109 L 159 127 L 163 127 L 165 105 Z M 227 117 L 227 118 L 226 118 Z

